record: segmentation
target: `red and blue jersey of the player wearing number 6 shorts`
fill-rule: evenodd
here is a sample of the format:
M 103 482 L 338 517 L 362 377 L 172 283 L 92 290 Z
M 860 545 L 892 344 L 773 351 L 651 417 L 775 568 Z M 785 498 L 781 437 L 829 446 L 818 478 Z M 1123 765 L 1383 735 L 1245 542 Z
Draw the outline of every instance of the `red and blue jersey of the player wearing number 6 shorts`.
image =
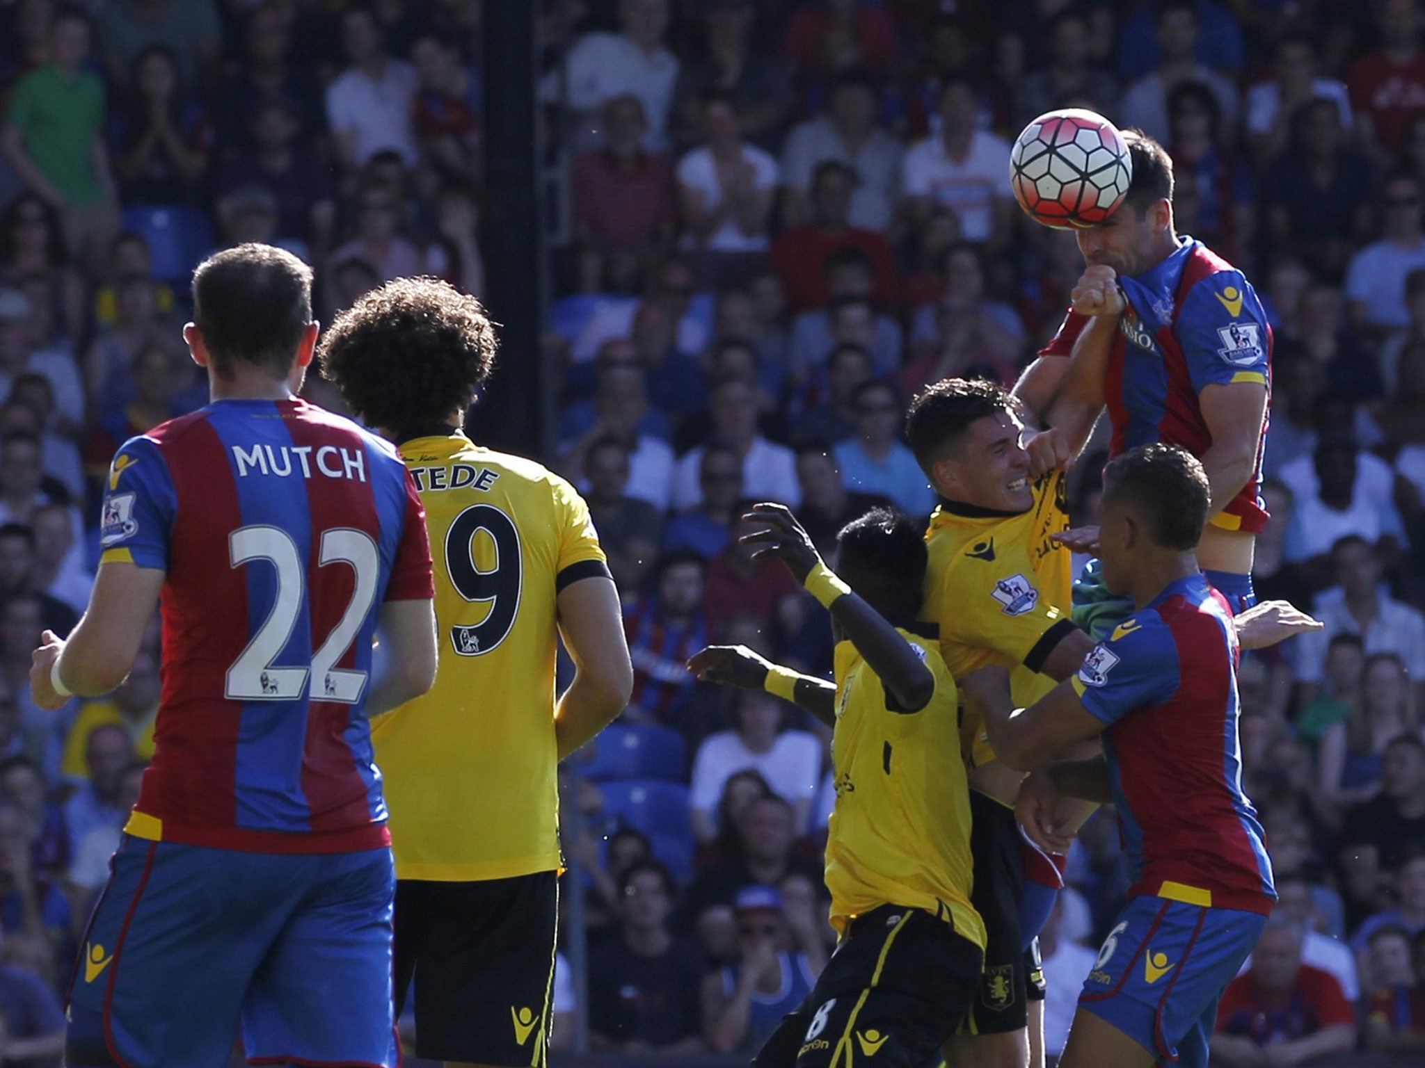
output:
M 1131 894 L 1271 911 L 1257 810 L 1243 793 L 1237 631 L 1201 574 L 1119 624 L 1073 678 L 1103 750 Z

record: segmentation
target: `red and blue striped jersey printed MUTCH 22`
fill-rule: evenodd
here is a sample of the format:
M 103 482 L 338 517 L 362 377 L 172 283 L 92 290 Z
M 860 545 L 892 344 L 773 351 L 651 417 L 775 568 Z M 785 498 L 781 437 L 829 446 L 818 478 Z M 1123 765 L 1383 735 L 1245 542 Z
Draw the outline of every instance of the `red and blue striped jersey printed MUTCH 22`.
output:
M 127 830 L 219 849 L 389 843 L 363 701 L 385 601 L 435 594 L 389 444 L 304 400 L 219 400 L 120 449 L 104 561 L 165 572 L 154 760 Z

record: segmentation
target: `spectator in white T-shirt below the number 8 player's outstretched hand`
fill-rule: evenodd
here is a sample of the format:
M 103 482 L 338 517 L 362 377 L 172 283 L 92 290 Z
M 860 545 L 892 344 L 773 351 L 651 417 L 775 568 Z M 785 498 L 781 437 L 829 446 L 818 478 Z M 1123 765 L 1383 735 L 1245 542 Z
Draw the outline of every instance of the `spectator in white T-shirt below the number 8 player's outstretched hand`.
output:
M 698 842 L 717 837 L 722 786 L 748 768 L 792 806 L 797 833 L 805 833 L 821 783 L 821 742 L 809 731 L 784 731 L 787 703 L 771 693 L 740 691 L 732 702 L 732 729 L 708 735 L 693 760 L 694 834 Z

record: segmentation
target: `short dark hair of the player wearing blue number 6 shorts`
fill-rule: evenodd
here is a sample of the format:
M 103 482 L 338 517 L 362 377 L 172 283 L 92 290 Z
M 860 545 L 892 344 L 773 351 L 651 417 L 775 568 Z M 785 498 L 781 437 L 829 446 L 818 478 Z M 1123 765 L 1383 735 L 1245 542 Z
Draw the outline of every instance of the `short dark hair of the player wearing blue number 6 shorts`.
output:
M 1127 504 L 1163 548 L 1191 553 L 1203 537 L 1211 487 L 1196 456 L 1170 444 L 1130 449 L 1103 468 L 1103 506 Z

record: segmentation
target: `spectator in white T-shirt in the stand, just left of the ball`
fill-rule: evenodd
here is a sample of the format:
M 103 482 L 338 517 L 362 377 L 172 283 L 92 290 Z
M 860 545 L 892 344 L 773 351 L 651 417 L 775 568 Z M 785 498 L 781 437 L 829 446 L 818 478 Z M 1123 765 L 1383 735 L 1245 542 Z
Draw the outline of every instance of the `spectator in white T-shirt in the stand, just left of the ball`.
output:
M 960 221 L 960 236 L 989 251 L 1009 235 L 1009 144 L 979 128 L 979 93 L 966 77 L 940 87 L 940 130 L 905 154 L 903 191 L 913 228 L 936 206 Z

